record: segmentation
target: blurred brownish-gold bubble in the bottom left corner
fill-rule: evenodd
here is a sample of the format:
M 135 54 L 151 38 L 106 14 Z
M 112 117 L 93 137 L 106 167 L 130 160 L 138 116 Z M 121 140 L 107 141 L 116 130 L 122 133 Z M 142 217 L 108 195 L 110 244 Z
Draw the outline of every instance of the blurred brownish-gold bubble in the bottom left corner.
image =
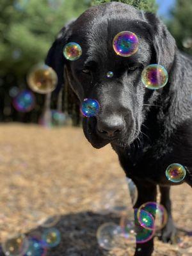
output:
M 29 241 L 25 235 L 21 234 L 12 237 L 2 243 L 2 249 L 6 256 L 21 256 L 28 250 Z

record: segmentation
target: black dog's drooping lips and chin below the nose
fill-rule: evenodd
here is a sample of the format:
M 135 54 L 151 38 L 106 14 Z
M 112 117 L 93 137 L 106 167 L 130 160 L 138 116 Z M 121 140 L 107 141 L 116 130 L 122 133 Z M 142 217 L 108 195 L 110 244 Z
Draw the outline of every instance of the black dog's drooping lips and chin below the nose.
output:
M 129 132 L 122 134 L 119 137 L 103 138 L 102 134 L 97 131 L 97 119 L 84 118 L 83 120 L 83 131 L 87 140 L 92 144 L 94 148 L 102 148 L 109 143 L 116 145 L 117 147 L 129 147 L 129 145 L 137 138 L 136 129 L 132 125 Z

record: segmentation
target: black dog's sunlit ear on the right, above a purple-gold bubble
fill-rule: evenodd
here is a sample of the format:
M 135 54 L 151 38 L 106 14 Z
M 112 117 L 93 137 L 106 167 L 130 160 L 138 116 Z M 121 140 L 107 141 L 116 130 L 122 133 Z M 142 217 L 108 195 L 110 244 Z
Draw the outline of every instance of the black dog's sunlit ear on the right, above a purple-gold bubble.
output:
M 175 39 L 156 15 L 145 13 L 145 18 L 148 24 L 150 24 L 150 34 L 156 53 L 156 63 L 163 65 L 170 71 L 175 58 Z

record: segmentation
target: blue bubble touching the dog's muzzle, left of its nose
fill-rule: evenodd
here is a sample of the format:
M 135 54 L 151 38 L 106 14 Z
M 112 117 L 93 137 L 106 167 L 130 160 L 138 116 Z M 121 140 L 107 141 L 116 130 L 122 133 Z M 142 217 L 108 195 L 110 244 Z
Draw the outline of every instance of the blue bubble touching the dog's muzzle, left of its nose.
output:
M 84 116 L 91 117 L 99 112 L 99 102 L 93 99 L 84 99 L 81 104 L 81 113 Z

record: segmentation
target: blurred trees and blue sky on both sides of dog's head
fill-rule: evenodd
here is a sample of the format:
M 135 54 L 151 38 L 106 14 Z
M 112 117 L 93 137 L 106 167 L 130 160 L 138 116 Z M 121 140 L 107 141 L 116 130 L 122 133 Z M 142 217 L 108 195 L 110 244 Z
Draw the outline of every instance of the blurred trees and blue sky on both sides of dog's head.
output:
M 13 99 L 22 90 L 29 89 L 26 83 L 29 70 L 33 65 L 44 62 L 47 51 L 64 24 L 78 17 L 92 4 L 102 2 L 108 2 L 108 0 L 1 0 L 1 122 L 39 122 L 44 108 L 45 95 L 35 93 L 36 104 L 26 113 L 15 109 Z M 134 4 L 138 1 L 128 0 L 129 2 Z M 155 6 L 152 10 L 157 10 L 157 15 L 167 24 L 179 49 L 191 54 L 191 0 L 157 0 L 157 5 L 155 5 L 155 0 L 147 2 Z M 54 96 L 54 93 L 52 94 Z M 56 109 L 56 97 L 52 98 L 51 108 Z

